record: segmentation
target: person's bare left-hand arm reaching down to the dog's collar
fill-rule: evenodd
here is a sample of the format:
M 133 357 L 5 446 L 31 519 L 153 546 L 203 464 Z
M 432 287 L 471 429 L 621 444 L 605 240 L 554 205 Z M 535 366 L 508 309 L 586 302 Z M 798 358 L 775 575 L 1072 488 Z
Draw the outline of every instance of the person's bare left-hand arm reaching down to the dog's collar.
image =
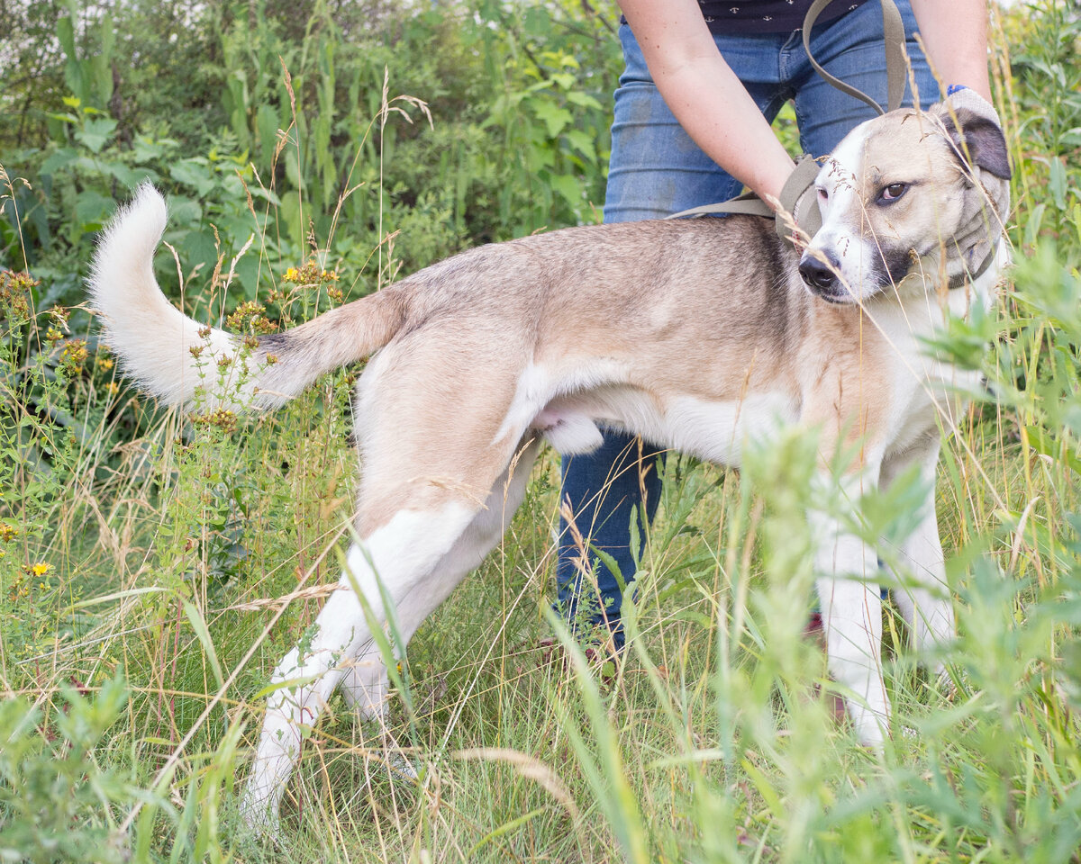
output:
M 619 0 L 660 95 L 694 141 L 763 200 L 792 173 L 746 87 L 729 68 L 696 0 Z

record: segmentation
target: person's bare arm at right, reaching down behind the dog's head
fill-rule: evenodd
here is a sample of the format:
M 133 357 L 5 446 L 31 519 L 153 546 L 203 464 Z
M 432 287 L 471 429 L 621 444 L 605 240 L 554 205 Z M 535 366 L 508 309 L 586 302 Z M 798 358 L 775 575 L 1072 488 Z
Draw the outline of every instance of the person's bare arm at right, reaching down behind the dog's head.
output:
M 911 0 L 923 46 L 944 86 L 964 84 L 990 102 L 986 0 Z

